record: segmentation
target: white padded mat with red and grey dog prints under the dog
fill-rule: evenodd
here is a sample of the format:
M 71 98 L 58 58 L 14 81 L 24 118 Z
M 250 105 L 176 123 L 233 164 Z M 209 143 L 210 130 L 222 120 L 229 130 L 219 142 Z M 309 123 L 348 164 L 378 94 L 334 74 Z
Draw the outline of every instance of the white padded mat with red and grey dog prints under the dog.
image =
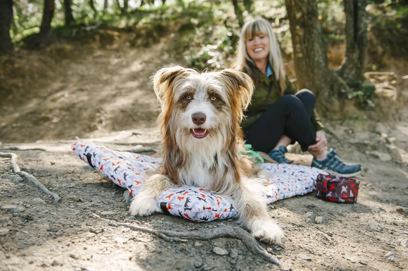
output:
M 74 153 L 89 166 L 105 175 L 113 183 L 129 190 L 137 197 L 146 173 L 155 170 L 160 158 L 147 155 L 120 152 L 94 143 L 72 144 Z M 269 179 L 249 179 L 258 186 L 265 203 L 273 203 L 296 195 L 313 191 L 316 178 L 326 173 L 318 168 L 292 164 L 268 164 L 261 167 L 271 176 Z M 202 188 L 178 186 L 163 190 L 157 206 L 166 214 L 181 216 L 191 221 L 205 222 L 236 216 L 231 199 L 215 195 Z

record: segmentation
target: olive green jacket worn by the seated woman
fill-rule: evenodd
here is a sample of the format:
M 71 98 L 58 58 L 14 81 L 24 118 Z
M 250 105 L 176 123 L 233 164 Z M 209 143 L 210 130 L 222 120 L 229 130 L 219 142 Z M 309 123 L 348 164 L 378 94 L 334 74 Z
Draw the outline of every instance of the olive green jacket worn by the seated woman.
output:
M 276 87 L 278 84 L 275 81 L 274 75 L 268 77 L 260 70 L 258 71 L 261 73 L 259 74 L 261 80 L 259 80 L 260 82 L 257 85 L 255 85 L 255 90 L 251 98 L 251 104 L 248 106 L 248 109 L 244 112 L 244 115 L 246 117 L 241 122 L 241 127 L 244 130 L 248 129 L 248 127 L 253 125 L 253 123 L 266 111 L 266 109 L 268 109 L 273 103 L 277 101 L 277 99 L 281 97 L 276 91 Z M 268 97 L 269 84 L 271 83 L 272 80 L 273 82 L 271 93 L 269 94 Z M 286 86 L 287 87 L 286 90 L 284 91 L 284 95 L 295 94 L 297 92 L 296 88 L 292 85 L 292 83 L 290 83 L 287 76 Z M 310 120 L 312 121 L 313 127 L 315 127 L 316 131 L 326 130 L 324 128 L 324 125 L 320 121 L 316 110 L 314 111 Z

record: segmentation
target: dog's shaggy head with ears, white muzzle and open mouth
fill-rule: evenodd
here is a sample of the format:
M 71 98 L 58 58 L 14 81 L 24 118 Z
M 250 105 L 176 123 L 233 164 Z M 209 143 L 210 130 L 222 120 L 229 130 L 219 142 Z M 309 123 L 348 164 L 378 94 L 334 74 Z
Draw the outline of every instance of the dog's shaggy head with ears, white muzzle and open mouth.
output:
M 159 70 L 153 82 L 162 133 L 190 150 L 208 141 L 220 148 L 235 137 L 253 92 L 251 78 L 234 70 L 199 74 L 175 66 Z

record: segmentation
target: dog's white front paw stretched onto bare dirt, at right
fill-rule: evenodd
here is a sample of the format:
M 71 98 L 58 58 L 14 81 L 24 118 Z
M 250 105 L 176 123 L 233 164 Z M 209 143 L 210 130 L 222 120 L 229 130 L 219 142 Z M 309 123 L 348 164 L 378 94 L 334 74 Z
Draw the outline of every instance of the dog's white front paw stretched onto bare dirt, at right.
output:
M 266 244 L 280 244 L 283 237 L 282 229 L 272 220 L 256 220 L 252 224 L 252 234 Z

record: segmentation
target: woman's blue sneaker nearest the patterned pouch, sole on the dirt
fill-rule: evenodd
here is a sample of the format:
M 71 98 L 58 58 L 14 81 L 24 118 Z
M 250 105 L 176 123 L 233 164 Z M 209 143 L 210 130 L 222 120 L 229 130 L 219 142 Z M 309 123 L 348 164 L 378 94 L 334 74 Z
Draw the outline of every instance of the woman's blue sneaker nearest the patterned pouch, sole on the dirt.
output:
M 323 160 L 313 158 L 312 167 L 320 168 L 329 174 L 342 177 L 353 177 L 361 173 L 360 164 L 346 164 L 337 156 L 337 152 L 330 149 L 327 157 Z

